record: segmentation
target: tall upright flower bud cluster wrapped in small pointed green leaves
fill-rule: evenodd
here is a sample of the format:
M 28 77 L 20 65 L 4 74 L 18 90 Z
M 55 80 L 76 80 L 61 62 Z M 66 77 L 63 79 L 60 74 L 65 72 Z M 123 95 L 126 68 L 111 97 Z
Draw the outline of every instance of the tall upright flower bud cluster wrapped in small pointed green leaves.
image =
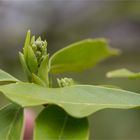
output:
M 26 69 L 28 69 L 29 81 L 35 83 L 41 83 L 42 81 L 48 84 L 48 59 L 49 58 L 47 54 L 46 40 L 42 41 L 41 37 L 35 39 L 35 36 L 33 36 L 30 39 L 30 31 L 28 31 L 25 40 L 25 45 L 23 48 L 23 56 L 24 56 L 23 59 L 25 59 L 24 61 L 25 63 L 23 67 L 26 66 Z M 44 64 L 46 66 L 44 66 Z M 37 80 L 40 81 L 38 82 Z

